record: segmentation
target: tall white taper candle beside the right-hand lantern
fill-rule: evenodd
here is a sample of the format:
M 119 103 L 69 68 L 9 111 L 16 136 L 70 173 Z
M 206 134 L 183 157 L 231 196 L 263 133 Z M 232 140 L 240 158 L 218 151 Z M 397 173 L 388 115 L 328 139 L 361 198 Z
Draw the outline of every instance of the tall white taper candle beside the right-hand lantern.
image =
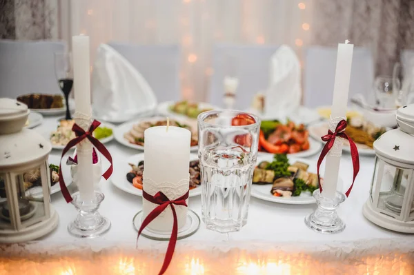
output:
M 331 108 L 331 121 L 335 118 L 346 119 L 346 105 L 348 104 L 349 80 L 351 79 L 351 65 L 353 56 L 353 45 L 338 44 L 337 63 L 335 71 L 335 84 L 333 86 L 333 101 Z M 338 123 L 330 123 L 331 130 L 335 130 Z M 342 155 L 342 139 L 337 138 L 335 145 L 326 156 L 325 176 L 323 184 L 323 194 L 327 198 L 334 198 L 337 190 L 339 164 Z

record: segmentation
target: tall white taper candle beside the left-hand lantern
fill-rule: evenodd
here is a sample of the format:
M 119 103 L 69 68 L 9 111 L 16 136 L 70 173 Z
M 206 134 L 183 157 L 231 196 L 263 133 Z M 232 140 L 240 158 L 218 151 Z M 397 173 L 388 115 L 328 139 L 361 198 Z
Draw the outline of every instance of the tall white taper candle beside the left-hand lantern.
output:
M 90 69 L 89 69 L 89 37 L 72 37 L 73 58 L 73 85 L 75 91 L 75 108 L 77 116 L 75 120 L 83 130 L 88 130 L 88 119 L 92 116 L 90 105 Z M 92 201 L 93 177 L 92 177 L 92 144 L 84 140 L 77 145 L 79 196 L 82 201 Z

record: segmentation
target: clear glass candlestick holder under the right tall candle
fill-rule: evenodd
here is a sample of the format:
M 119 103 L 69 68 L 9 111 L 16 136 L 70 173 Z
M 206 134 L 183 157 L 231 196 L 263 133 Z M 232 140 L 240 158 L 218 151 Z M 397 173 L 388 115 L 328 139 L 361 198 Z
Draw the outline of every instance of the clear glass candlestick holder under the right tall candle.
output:
M 305 224 L 311 230 L 323 234 L 334 234 L 345 230 L 344 221 L 337 214 L 339 203 L 345 201 L 346 196 L 336 192 L 334 198 L 326 198 L 319 189 L 313 192 L 317 208 L 315 212 L 305 218 Z

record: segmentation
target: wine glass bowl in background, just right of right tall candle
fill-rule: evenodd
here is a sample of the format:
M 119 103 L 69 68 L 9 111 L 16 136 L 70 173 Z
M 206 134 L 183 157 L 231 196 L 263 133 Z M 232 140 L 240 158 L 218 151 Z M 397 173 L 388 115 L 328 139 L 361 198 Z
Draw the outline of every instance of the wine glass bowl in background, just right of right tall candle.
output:
M 395 98 L 400 91 L 400 79 L 388 76 L 376 77 L 374 81 L 375 97 L 377 104 L 384 108 L 395 108 Z

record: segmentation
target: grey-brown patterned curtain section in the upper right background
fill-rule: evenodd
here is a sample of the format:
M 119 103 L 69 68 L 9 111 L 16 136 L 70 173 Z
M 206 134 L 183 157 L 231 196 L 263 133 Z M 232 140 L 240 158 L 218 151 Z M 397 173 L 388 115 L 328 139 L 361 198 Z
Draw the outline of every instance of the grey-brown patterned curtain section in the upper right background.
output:
M 413 0 L 313 0 L 312 45 L 348 39 L 371 49 L 376 74 L 391 75 L 400 52 L 414 48 Z

